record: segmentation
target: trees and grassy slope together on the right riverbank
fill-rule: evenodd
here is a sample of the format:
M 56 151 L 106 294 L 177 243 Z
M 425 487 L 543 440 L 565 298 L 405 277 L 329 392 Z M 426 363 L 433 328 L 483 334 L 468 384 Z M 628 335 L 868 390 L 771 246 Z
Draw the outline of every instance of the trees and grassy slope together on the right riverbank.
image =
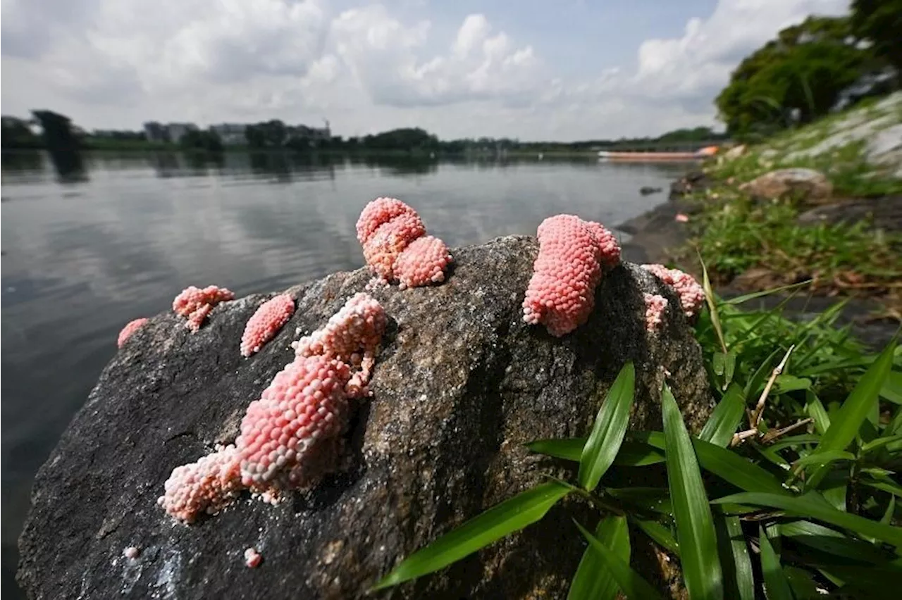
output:
M 713 281 L 739 290 L 808 281 L 825 295 L 869 296 L 902 321 L 902 1 L 857 0 L 841 18 L 779 32 L 732 74 L 716 104 L 741 147 L 704 165 L 688 194 L 693 237 Z M 897 32 L 898 29 L 892 29 Z M 779 169 L 805 186 L 762 194 Z

